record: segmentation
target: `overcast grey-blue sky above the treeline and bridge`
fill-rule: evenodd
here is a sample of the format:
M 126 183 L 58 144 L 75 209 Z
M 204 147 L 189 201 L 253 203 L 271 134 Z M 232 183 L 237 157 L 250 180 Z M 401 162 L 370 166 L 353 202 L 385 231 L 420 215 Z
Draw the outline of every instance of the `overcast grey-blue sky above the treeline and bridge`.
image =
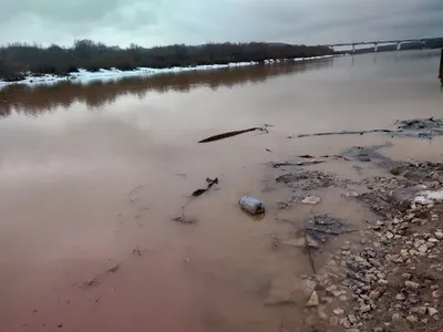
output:
M 443 0 L 0 0 L 0 44 L 320 44 L 443 35 Z

